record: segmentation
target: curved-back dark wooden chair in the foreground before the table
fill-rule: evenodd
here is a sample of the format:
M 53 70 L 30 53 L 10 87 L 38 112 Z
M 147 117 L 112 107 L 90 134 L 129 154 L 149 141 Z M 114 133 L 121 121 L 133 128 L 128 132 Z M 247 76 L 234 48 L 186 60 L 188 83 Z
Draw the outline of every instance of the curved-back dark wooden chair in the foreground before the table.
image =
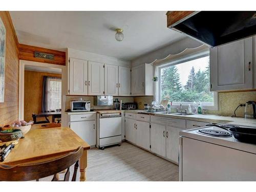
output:
M 54 175 L 52 181 L 58 181 L 57 174 L 67 169 L 63 181 L 69 181 L 70 166 L 75 163 L 72 181 L 76 181 L 78 160 L 83 154 L 83 147 L 79 146 L 74 152 L 59 158 L 39 163 L 17 164 L 14 166 L 0 164 L 0 181 L 38 181 L 40 178 Z

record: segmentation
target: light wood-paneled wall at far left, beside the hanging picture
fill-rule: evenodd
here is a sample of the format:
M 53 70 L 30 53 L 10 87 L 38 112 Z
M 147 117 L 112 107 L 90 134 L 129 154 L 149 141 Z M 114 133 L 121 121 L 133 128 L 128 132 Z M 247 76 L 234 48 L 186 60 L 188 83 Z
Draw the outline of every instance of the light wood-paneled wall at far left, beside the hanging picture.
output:
M 0 11 L 6 28 L 5 98 L 0 103 L 0 126 L 18 118 L 18 40 L 8 11 Z

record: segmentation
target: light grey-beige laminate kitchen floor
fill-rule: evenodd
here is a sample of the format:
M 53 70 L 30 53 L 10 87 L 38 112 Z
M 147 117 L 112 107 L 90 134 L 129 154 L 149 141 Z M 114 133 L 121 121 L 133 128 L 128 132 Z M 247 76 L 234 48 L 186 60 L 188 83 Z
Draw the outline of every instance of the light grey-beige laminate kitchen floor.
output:
M 71 167 L 71 177 L 73 175 Z M 79 169 L 78 169 L 79 170 Z M 64 174 L 60 174 L 62 179 Z M 87 181 L 178 181 L 179 167 L 130 143 L 89 150 Z M 77 173 L 79 180 L 80 173 Z M 50 181 L 52 177 L 40 181 Z

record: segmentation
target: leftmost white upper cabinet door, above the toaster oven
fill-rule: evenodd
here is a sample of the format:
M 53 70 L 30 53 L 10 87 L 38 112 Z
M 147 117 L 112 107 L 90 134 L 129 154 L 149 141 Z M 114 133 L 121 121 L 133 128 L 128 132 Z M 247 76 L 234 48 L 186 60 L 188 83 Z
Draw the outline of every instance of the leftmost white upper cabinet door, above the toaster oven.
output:
M 70 58 L 69 78 L 69 94 L 87 95 L 88 61 Z

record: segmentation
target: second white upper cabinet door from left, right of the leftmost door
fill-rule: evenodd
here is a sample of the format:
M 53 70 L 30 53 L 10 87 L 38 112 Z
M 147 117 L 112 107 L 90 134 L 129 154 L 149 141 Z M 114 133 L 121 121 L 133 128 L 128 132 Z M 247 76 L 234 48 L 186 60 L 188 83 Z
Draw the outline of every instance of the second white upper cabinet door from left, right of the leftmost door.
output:
M 88 62 L 88 93 L 89 95 L 104 94 L 104 64 Z

